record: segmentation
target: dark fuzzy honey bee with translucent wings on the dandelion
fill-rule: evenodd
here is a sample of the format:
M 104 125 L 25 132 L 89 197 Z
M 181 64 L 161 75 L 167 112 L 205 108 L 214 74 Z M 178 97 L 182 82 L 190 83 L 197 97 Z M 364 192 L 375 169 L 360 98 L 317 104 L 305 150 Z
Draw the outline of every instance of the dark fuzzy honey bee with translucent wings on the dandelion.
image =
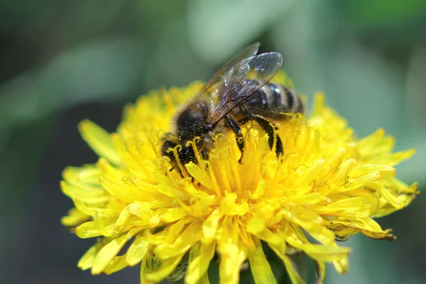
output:
M 241 126 L 249 121 L 256 121 L 268 133 L 268 144 L 272 149 L 275 142 L 277 155 L 283 153 L 283 143 L 274 135 L 278 129 L 274 123 L 285 120 L 283 113 L 303 113 L 305 107 L 293 89 L 269 82 L 280 69 L 283 55 L 256 54 L 259 46 L 254 43 L 237 53 L 175 114 L 173 131 L 165 134 L 160 148 L 161 154 L 170 158 L 173 168 L 180 168 L 178 160 L 182 165 L 197 163 L 188 141 L 197 141 L 202 159 L 207 160 L 214 147 L 214 136 L 226 135 L 228 131 L 235 133 L 241 163 L 244 154 Z M 176 157 L 171 149 L 177 146 Z

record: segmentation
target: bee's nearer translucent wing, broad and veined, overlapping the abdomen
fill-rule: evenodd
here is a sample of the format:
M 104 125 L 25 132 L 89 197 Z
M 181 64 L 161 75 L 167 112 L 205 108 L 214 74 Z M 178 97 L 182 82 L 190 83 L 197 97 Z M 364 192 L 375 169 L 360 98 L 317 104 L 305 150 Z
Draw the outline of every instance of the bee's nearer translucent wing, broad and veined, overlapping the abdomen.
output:
M 219 94 L 219 102 L 214 108 L 212 126 L 271 80 L 282 63 L 283 55 L 280 53 L 262 53 L 231 67 L 224 77 L 224 89 Z

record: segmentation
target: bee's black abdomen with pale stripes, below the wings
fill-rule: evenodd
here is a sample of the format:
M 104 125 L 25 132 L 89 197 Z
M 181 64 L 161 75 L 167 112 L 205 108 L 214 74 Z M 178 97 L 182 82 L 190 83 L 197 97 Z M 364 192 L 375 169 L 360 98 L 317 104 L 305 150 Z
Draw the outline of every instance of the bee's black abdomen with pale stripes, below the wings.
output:
M 266 119 L 283 120 L 282 113 L 304 113 L 305 106 L 300 97 L 287 87 L 266 83 L 241 104 L 234 113 L 237 116 L 257 114 Z

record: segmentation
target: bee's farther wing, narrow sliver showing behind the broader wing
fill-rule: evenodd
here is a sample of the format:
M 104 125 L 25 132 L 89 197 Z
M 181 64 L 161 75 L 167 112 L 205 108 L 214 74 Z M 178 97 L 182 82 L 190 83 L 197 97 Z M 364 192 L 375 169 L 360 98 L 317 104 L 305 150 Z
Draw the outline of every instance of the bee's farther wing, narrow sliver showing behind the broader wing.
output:
M 246 58 L 251 58 L 253 55 L 255 55 L 258 52 L 260 45 L 260 43 L 253 43 L 252 45 L 247 46 L 239 53 L 237 53 L 233 58 L 226 62 L 222 67 L 220 67 L 220 69 L 217 70 L 217 72 L 214 73 L 212 77 L 210 77 L 209 81 L 207 81 L 204 87 L 202 87 L 201 91 L 198 92 L 198 95 L 205 94 L 207 91 L 209 91 L 209 89 L 212 89 L 212 87 L 217 87 L 218 84 L 223 84 L 224 77 L 228 76 L 229 71 L 232 69 L 232 67 L 245 60 Z

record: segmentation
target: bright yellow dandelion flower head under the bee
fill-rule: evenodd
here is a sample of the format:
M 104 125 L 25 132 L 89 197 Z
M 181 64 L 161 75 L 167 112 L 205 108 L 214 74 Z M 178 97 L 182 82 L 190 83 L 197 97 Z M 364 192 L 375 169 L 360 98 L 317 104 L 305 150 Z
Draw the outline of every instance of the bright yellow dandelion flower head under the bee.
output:
M 286 79 L 278 73 L 274 80 Z M 359 232 L 395 239 L 373 217 L 415 198 L 416 185 L 395 178 L 393 168 L 414 151 L 393 153 L 394 140 L 382 129 L 356 138 L 322 94 L 309 117 L 293 115 L 279 126 L 280 158 L 267 134 L 249 123 L 242 163 L 235 137 L 218 136 L 208 160 L 198 155 L 198 163 L 185 165 L 190 177 L 170 171 L 160 139 L 179 104 L 201 88 L 196 82 L 141 97 L 126 106 L 116 133 L 82 121 L 82 137 L 100 158 L 66 168 L 61 182 L 75 204 L 62 224 L 75 227 L 80 238 L 97 238 L 80 268 L 109 274 L 140 263 L 141 283 L 182 277 L 185 283 L 209 283 L 207 269 L 217 256 L 220 283 L 238 283 L 246 261 L 255 283 L 276 283 L 263 243 L 293 283 L 304 280 L 291 253 L 306 253 L 320 283 L 326 262 L 339 273 L 348 271 L 350 249 L 336 240 Z

